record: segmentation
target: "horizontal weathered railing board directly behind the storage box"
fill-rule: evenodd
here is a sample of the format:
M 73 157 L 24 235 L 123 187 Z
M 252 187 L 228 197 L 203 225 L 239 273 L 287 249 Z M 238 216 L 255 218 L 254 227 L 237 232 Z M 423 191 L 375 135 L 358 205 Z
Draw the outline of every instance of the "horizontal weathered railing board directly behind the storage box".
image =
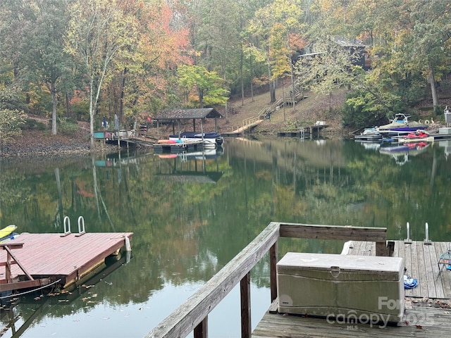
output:
M 306 225 L 300 223 L 279 223 L 280 237 L 336 239 L 343 241 L 385 242 L 385 227 L 351 227 L 339 225 Z

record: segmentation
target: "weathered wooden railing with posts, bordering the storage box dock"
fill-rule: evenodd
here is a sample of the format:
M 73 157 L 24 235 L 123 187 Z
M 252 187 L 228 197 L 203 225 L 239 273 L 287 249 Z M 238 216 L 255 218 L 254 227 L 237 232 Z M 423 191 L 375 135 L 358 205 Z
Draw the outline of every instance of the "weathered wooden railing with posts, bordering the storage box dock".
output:
M 387 256 L 387 228 L 306 225 L 271 222 L 211 280 L 168 315 L 146 338 L 208 337 L 208 315 L 240 283 L 241 337 L 252 336 L 250 270 L 269 252 L 271 303 L 277 299 L 276 264 L 279 237 L 376 242 L 376 256 Z

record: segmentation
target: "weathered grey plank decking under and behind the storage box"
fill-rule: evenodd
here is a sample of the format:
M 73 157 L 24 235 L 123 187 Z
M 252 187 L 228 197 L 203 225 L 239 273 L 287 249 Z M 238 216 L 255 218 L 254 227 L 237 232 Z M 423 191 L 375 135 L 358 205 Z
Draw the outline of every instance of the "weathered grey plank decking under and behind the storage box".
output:
M 438 260 L 450 248 L 450 243 L 393 242 L 392 256 L 404 258 L 407 273 L 418 281 L 414 289 L 404 290 L 406 308 L 401 323 L 383 326 L 283 315 L 277 312 L 276 299 L 252 332 L 252 338 L 451 337 L 451 271 L 445 269 L 438 275 Z M 350 242 L 342 253 L 376 256 L 376 243 Z

